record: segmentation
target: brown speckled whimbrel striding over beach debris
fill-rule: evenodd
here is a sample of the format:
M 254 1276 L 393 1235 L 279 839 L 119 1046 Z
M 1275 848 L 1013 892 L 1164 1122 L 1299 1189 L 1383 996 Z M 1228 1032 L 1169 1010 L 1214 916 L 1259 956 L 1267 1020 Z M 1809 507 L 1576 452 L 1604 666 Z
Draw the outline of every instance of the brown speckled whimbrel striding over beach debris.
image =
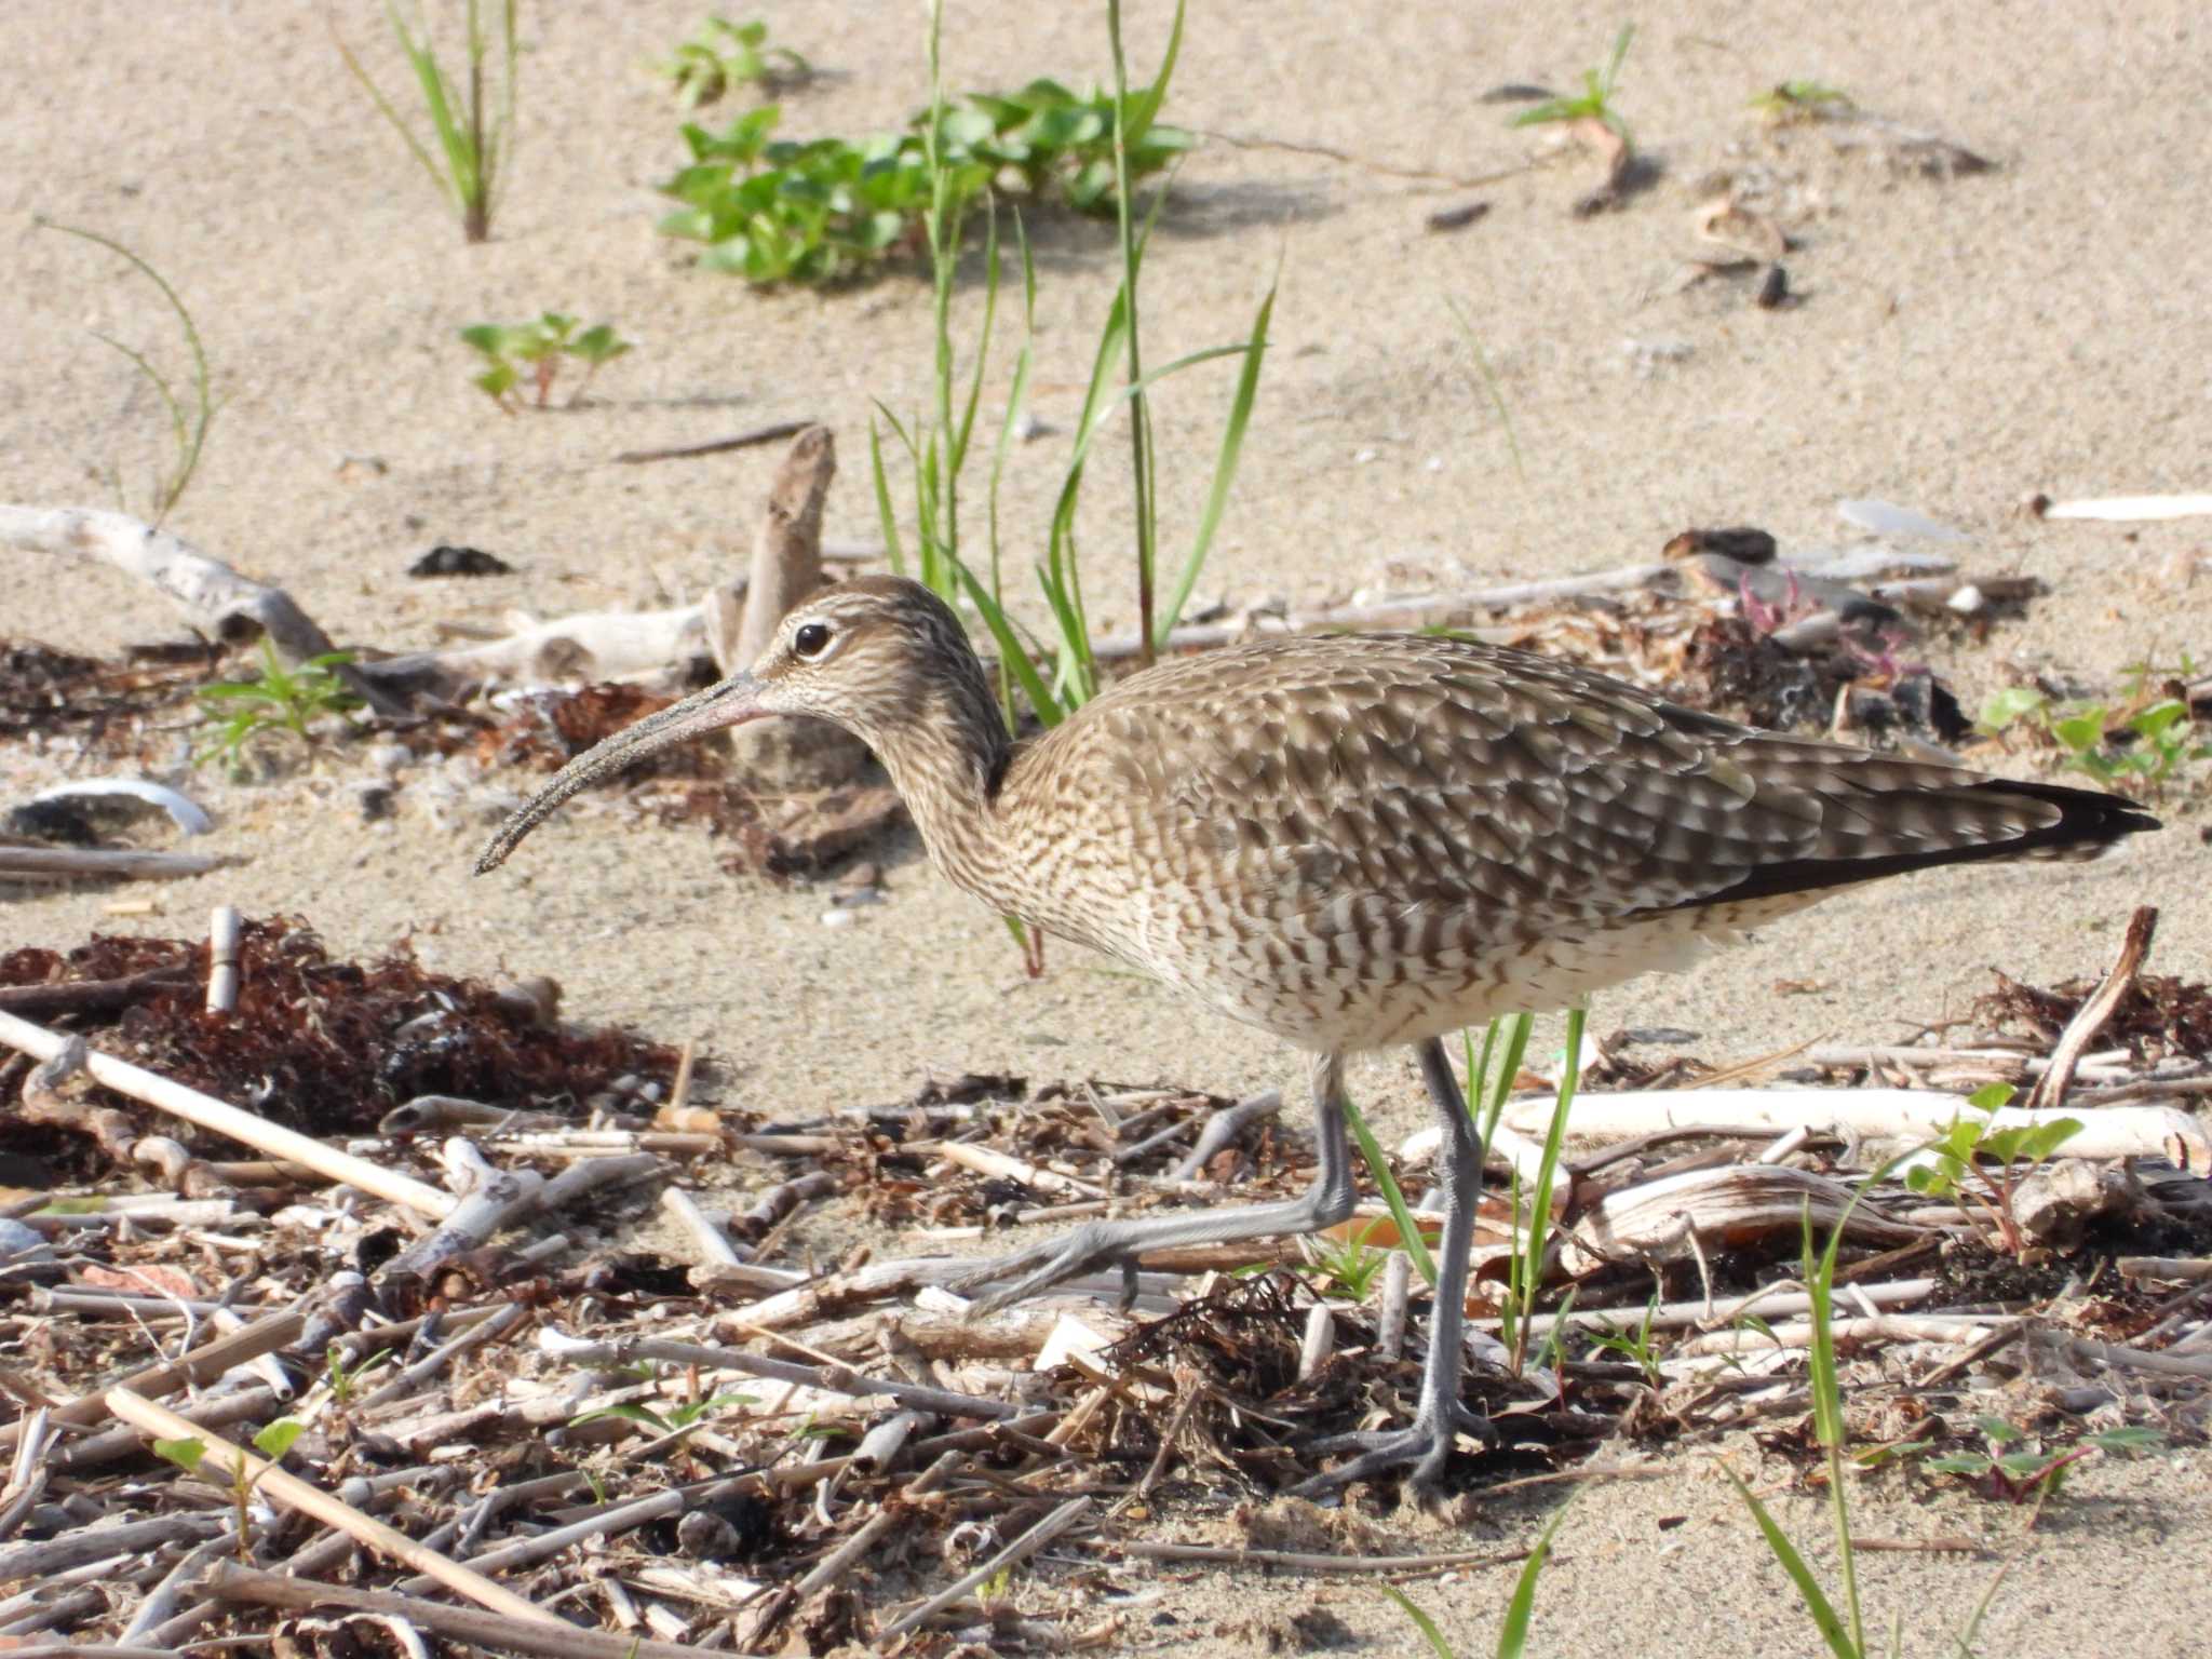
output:
M 1863 880 L 2084 858 L 2157 827 L 2119 796 L 1759 732 L 1420 635 L 1166 661 L 1015 743 L 958 617 L 914 582 L 865 577 L 799 604 L 750 672 L 562 768 L 478 872 L 577 790 L 765 714 L 865 739 L 953 885 L 1312 1055 L 1321 1168 L 1305 1197 L 1082 1225 L 975 1267 L 967 1285 L 1004 1285 L 989 1305 L 1099 1265 L 1133 1274 L 1144 1250 L 1343 1221 L 1345 1055 L 1413 1046 L 1447 1194 L 1420 1402 L 1312 1491 L 1402 1464 L 1433 1491 L 1455 1431 L 1486 1433 L 1460 1402 L 1484 1148 L 1444 1033 L 1683 967 Z

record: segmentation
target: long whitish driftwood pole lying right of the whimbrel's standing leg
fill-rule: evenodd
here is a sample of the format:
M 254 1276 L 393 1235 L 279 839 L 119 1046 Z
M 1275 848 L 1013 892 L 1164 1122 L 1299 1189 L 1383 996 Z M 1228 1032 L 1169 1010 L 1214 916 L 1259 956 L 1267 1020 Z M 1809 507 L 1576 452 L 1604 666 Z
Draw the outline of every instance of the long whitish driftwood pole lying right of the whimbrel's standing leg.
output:
M 1542 1135 L 1551 1121 L 1548 1095 L 1524 1095 L 1506 1104 L 1504 1121 Z M 1650 1135 L 1661 1128 L 1703 1124 L 1710 1128 L 1770 1128 L 1776 1135 L 1801 1124 L 1812 1130 L 1849 1130 L 1878 1139 L 1931 1139 L 1953 1119 L 1975 1117 L 1958 1095 L 1924 1088 L 1644 1088 L 1619 1095 L 1575 1095 L 1568 1139 L 1601 1141 Z M 2079 1113 L 2000 1106 L 1991 1128 L 2035 1128 L 2057 1117 L 2075 1117 L 2081 1133 L 2066 1141 L 2068 1157 L 2166 1157 L 2177 1168 L 2212 1170 L 2212 1133 L 2170 1106 L 2104 1106 Z

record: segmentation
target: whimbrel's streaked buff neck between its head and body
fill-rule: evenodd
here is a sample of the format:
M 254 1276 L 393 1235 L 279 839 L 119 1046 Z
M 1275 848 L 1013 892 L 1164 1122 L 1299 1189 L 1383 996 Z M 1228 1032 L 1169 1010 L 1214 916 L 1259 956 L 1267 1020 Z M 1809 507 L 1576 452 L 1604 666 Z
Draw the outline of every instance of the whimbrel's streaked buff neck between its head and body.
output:
M 956 887 L 1004 902 L 993 796 L 1013 750 L 982 668 L 931 686 L 896 730 L 867 737 L 931 863 Z

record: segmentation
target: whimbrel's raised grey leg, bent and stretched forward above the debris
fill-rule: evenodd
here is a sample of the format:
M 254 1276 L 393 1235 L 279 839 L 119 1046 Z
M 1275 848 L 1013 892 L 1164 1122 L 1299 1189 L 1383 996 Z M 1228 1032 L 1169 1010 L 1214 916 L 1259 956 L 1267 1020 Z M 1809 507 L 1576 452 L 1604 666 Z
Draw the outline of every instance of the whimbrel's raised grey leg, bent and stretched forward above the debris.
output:
M 1146 1221 L 1086 1221 L 1068 1234 L 995 1256 L 949 1281 L 953 1290 L 1011 1281 L 975 1298 L 975 1312 L 991 1312 L 1035 1296 L 1040 1290 L 1095 1267 L 1117 1265 L 1124 1301 L 1137 1292 L 1137 1256 L 1146 1250 L 1228 1243 L 1232 1239 L 1281 1239 L 1332 1228 L 1352 1214 L 1352 1141 L 1345 1135 L 1345 1057 L 1314 1057 L 1314 1148 L 1321 1168 L 1301 1199 L 1248 1203 L 1237 1210 L 1188 1210 Z

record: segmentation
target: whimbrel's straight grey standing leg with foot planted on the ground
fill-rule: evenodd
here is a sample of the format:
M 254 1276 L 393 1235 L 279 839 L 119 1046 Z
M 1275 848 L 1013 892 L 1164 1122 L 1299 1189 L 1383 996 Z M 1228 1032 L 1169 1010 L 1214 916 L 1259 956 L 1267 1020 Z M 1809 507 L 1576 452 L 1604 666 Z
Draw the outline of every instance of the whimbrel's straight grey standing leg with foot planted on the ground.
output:
M 1327 1469 L 1292 1491 L 1301 1498 L 1371 1480 L 1387 1469 L 1413 1467 L 1411 1486 L 1418 1498 L 1433 1498 L 1444 1480 L 1453 1440 L 1471 1433 L 1491 1442 L 1498 1431 L 1486 1418 L 1460 1405 L 1460 1365 L 1467 1356 L 1467 1259 L 1475 1243 L 1475 1217 L 1482 1210 L 1482 1130 L 1475 1126 L 1460 1084 L 1444 1060 L 1444 1044 L 1429 1037 L 1416 1048 L 1422 1082 L 1444 1124 L 1438 1148 L 1438 1175 L 1444 1186 L 1444 1237 L 1436 1250 L 1436 1303 L 1429 1314 L 1429 1356 L 1420 1367 L 1420 1405 L 1407 1429 L 1385 1433 L 1347 1433 L 1323 1440 L 1316 1451 L 1360 1451 L 1347 1464 Z

